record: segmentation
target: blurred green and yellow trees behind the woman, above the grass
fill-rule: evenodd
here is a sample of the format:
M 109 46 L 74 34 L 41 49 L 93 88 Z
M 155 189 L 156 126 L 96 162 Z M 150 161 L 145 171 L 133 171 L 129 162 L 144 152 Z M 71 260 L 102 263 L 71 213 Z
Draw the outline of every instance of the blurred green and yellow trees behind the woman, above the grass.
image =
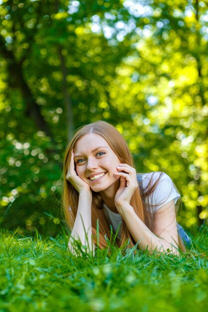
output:
M 208 217 L 208 1 L 0 0 L 0 226 L 56 235 L 73 131 L 96 120 Z

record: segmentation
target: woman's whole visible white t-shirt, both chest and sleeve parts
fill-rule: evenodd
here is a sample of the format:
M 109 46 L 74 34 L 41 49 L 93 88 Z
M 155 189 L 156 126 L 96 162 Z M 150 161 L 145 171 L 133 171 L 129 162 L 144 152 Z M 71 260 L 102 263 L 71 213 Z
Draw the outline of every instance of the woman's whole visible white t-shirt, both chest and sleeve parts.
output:
M 152 183 L 156 182 L 159 178 L 161 172 L 150 172 L 142 174 L 142 183 L 143 188 L 145 189 L 150 182 L 152 177 Z M 169 201 L 173 200 L 175 203 L 179 199 L 180 194 L 174 186 L 174 183 L 170 176 L 166 173 L 162 173 L 162 176 L 159 180 L 154 191 L 145 198 L 145 202 L 147 205 L 147 210 L 154 214 L 160 207 L 167 204 Z M 151 206 L 154 205 L 154 206 Z M 113 227 L 113 232 L 116 233 L 118 229 L 119 222 L 122 221 L 122 217 L 119 213 L 115 213 L 111 211 L 106 204 L 103 204 L 103 208 L 107 218 L 109 219 L 110 224 Z M 118 237 L 121 236 L 121 227 L 118 232 Z

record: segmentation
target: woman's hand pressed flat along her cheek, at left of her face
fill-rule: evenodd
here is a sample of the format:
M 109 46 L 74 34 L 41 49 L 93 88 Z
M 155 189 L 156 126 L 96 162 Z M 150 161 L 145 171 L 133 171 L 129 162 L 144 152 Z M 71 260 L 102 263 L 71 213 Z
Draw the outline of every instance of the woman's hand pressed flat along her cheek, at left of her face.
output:
M 78 193 L 81 191 L 91 191 L 89 184 L 83 181 L 76 173 L 74 167 L 74 153 L 71 152 L 71 160 L 69 162 L 68 171 L 66 174 L 66 179 L 69 181 L 77 190 Z

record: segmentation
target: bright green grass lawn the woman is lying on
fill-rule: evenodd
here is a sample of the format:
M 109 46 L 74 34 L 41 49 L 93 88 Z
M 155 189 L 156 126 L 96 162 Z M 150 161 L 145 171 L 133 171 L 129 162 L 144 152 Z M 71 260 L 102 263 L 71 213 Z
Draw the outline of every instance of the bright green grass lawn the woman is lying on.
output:
M 207 311 L 207 227 L 180 256 L 111 246 L 110 256 L 75 257 L 67 242 L 64 233 L 43 240 L 1 231 L 0 312 Z

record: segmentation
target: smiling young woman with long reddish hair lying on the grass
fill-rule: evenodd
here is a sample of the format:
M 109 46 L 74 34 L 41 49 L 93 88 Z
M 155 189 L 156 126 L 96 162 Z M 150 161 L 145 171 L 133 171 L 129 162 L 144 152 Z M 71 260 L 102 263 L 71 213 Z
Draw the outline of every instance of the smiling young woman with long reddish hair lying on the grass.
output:
M 167 174 L 136 173 L 126 141 L 106 122 L 79 129 L 66 149 L 63 203 L 72 252 L 74 239 L 89 251 L 97 245 L 106 247 L 110 225 L 115 233 L 121 223 L 118 246 L 129 239 L 130 247 L 138 244 L 142 250 L 178 254 L 175 204 L 179 197 Z

